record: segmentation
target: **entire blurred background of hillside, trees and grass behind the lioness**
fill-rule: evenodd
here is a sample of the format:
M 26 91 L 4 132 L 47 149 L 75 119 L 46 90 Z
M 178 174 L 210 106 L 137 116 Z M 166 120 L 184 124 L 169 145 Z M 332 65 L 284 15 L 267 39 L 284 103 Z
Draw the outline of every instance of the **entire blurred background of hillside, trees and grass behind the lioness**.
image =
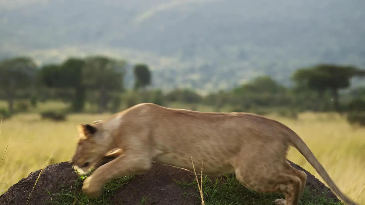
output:
M 0 193 L 153 102 L 273 117 L 365 202 L 364 22 L 363 0 L 2 0 Z

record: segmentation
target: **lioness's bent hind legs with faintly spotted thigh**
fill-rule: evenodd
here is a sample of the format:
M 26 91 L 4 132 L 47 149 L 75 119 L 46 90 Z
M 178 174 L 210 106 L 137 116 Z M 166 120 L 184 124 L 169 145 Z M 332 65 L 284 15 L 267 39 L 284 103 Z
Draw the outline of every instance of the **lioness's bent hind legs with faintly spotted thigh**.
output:
M 249 163 L 245 163 L 249 161 Z M 280 193 L 277 205 L 298 205 L 304 191 L 306 174 L 290 166 L 285 157 L 238 159 L 233 163 L 236 179 L 248 189 L 260 193 Z M 302 183 L 304 185 L 302 185 Z

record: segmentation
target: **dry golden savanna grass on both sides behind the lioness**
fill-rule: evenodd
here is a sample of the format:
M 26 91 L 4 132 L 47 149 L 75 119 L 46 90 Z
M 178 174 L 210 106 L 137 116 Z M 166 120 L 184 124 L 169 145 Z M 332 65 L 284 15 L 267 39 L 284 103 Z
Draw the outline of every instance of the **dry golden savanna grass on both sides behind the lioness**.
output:
M 0 107 L 3 106 L 2 102 Z M 64 106 L 62 103 L 39 104 L 38 109 Z M 168 107 L 188 108 L 183 105 Z M 198 107 L 199 111 L 212 111 Z M 3 120 L 0 125 L 0 194 L 47 160 L 69 160 L 77 141 L 76 125 L 105 119 L 105 114 L 73 114 L 66 121 L 42 120 L 36 112 Z M 365 204 L 365 129 L 351 127 L 334 113 L 301 113 L 297 120 L 271 115 L 297 132 L 314 152 L 339 188 L 350 198 Z M 6 150 L 6 151 L 5 151 Z M 288 159 L 323 181 L 298 151 L 291 148 Z

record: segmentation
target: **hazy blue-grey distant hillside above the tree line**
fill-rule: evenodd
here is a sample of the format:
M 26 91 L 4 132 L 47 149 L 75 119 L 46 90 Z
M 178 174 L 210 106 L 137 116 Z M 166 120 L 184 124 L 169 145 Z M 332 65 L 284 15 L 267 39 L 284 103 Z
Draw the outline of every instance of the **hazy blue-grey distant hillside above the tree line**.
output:
M 364 0 L 12 0 L 0 3 L 0 54 L 146 62 L 165 89 L 288 84 L 319 62 L 365 67 L 364 22 Z

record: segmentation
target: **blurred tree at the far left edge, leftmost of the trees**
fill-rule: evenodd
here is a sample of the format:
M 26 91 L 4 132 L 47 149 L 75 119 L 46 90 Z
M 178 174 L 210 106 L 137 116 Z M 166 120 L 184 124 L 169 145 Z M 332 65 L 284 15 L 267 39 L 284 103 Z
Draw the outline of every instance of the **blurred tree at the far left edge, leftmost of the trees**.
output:
M 0 62 L 0 89 L 5 93 L 10 112 L 14 112 L 16 92 L 34 88 L 37 71 L 37 65 L 29 57 L 9 58 Z

